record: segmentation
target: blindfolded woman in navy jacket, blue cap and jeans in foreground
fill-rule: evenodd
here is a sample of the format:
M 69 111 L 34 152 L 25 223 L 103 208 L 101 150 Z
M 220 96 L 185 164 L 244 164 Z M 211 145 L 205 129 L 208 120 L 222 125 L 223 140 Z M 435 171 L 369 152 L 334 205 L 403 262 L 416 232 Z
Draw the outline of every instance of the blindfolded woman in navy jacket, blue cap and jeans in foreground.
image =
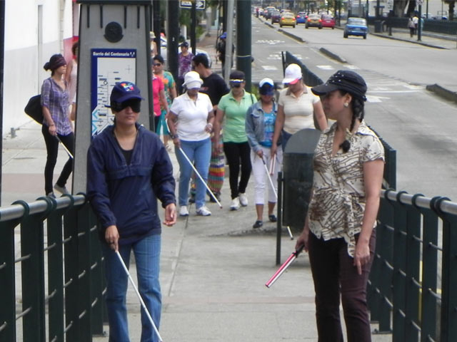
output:
M 141 100 L 133 83 L 116 83 L 110 97 L 115 123 L 92 140 L 87 157 L 87 195 L 101 226 L 110 341 L 129 341 L 128 277 L 114 252 L 119 251 L 129 267 L 134 251 L 139 292 L 159 327 L 161 222 L 157 198 L 165 208 L 164 224 L 176 222 L 173 167 L 159 137 L 136 123 Z M 142 309 L 141 324 L 142 342 L 159 341 Z

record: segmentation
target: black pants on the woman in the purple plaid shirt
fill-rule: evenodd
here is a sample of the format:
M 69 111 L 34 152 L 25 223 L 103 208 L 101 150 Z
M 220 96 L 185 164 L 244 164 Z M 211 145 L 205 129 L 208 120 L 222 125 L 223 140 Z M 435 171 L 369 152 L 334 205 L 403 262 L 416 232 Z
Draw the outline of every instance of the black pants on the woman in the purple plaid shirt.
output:
M 52 176 L 54 175 L 54 167 L 57 162 L 57 153 L 59 152 L 59 140 L 57 140 L 54 135 L 49 133 L 49 127 L 43 125 L 41 127 L 41 133 L 43 133 L 44 142 L 46 143 L 46 151 L 48 155 L 46 157 L 46 166 L 44 167 L 44 191 L 46 195 L 52 190 Z M 73 132 L 69 135 L 57 135 L 65 147 L 71 152 L 71 155 L 74 155 L 74 134 Z M 73 158 L 69 157 L 69 160 L 66 161 L 64 168 L 60 174 L 59 179 L 56 184 L 59 187 L 64 187 L 66 181 L 69 179 L 71 171 L 73 170 Z

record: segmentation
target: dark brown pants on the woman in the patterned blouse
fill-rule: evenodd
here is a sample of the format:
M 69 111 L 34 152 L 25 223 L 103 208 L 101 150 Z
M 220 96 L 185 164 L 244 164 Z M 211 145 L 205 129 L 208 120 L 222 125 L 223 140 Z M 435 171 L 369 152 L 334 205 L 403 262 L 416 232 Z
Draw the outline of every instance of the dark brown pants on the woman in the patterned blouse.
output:
M 356 237 L 357 239 L 357 237 Z M 371 341 L 371 327 L 366 306 L 366 283 L 373 261 L 376 231 L 370 239 L 371 261 L 358 275 L 344 239 L 323 241 L 309 234 L 309 260 L 316 291 L 316 321 L 319 342 L 343 341 L 340 322 L 340 296 L 348 342 Z

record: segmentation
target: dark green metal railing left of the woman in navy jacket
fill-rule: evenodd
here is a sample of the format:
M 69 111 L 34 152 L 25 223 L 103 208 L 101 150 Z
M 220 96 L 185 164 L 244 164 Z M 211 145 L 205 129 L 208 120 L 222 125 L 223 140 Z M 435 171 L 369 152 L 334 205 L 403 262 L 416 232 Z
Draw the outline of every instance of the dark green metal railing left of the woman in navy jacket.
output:
M 0 208 L 0 341 L 85 342 L 103 333 L 96 231 L 84 195 Z

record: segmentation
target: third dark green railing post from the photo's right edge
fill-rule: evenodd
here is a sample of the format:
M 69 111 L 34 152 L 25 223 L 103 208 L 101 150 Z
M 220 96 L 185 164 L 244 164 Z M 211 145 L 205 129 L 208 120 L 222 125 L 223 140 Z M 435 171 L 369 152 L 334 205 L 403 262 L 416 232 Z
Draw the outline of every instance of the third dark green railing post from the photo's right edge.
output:
M 403 193 L 398 192 L 393 203 L 393 342 L 405 342 L 406 311 L 406 211 L 400 202 Z

